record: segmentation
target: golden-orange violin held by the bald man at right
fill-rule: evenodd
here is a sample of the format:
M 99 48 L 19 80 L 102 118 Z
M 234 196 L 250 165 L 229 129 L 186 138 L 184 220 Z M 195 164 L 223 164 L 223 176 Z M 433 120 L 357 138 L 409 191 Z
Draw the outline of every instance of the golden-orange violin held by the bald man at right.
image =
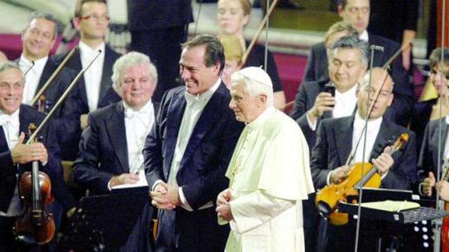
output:
M 391 146 L 390 155 L 401 149 L 408 141 L 409 135 L 402 133 Z M 363 170 L 363 176 L 362 176 Z M 357 188 L 371 187 L 379 188 L 381 185 L 381 175 L 376 167 L 369 162 L 358 162 L 351 167 L 349 176 L 339 184 L 330 184 L 316 193 L 315 206 L 319 213 L 329 220 L 332 225 L 341 226 L 348 222 L 346 213 L 338 212 L 338 203 L 347 202 L 347 196 L 357 195 Z M 357 201 L 353 201 L 353 204 Z

